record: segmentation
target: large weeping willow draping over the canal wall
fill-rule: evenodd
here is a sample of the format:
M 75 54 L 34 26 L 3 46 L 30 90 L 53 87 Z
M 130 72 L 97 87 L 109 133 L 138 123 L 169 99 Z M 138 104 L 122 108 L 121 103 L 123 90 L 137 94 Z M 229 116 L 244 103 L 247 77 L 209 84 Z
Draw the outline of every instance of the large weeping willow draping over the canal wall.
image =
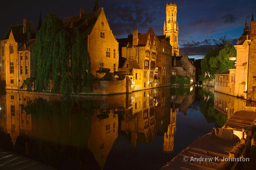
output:
M 77 28 L 65 28 L 56 14 L 49 13 L 35 46 L 35 91 L 49 91 L 52 79 L 51 92 L 92 92 L 90 56 Z

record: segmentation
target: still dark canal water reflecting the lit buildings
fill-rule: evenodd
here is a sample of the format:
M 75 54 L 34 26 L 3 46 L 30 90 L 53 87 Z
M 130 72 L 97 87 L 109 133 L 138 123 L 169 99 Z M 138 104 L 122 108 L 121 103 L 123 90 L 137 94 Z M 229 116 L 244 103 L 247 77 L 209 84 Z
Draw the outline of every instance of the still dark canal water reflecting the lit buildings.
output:
M 6 90 L 0 148 L 57 169 L 155 170 L 244 105 L 212 87 L 109 96 Z

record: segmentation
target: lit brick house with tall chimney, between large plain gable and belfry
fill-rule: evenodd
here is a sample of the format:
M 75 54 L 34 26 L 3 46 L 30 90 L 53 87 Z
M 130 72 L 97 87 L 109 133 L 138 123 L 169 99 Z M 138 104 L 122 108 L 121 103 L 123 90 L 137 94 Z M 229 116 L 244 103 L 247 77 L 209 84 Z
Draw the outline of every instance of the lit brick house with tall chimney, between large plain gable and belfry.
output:
M 155 76 L 155 72 L 159 71 L 157 70 L 159 68 L 156 67 L 156 62 L 158 60 L 156 42 L 158 40 L 152 28 L 149 27 L 149 31 L 144 34 L 138 33 L 138 30 L 133 30 L 133 32 L 128 35 L 127 39 L 118 39 L 118 41 L 122 42 L 120 43 L 121 46 L 123 45 L 122 51 L 120 52 L 120 58 L 122 60 L 131 59 L 124 62 L 124 65 L 120 66 L 119 70 L 124 71 L 126 74 L 133 74 L 132 76 L 135 77 L 135 81 L 133 82 L 135 87 L 133 87 L 133 89 L 138 89 L 136 85 L 139 85 L 136 83 L 136 73 L 137 79 L 139 78 L 139 74 L 142 74 L 140 77 L 142 79 L 142 88 L 140 88 L 140 90 L 156 87 L 159 83 L 159 78 Z M 130 71 L 131 69 L 134 69 L 131 64 L 129 64 L 131 61 L 138 69 L 135 73 Z M 139 66 L 141 70 L 139 69 Z M 133 77 L 131 77 L 132 80 Z

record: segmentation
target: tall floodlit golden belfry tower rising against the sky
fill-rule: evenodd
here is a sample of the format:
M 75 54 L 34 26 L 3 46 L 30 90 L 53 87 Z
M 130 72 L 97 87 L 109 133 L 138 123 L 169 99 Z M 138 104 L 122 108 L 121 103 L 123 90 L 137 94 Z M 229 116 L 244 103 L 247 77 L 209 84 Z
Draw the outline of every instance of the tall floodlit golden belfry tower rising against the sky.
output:
M 166 4 L 166 23 L 164 21 L 164 35 L 170 38 L 172 56 L 179 56 L 178 37 L 179 26 L 177 22 L 177 4 Z

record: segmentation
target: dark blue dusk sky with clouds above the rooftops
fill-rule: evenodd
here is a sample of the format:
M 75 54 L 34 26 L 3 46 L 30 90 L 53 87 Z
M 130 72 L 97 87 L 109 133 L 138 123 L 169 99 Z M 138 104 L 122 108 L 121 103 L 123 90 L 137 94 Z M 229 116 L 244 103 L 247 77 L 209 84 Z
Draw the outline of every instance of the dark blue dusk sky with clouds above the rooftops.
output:
M 133 29 L 146 33 L 149 26 L 156 35 L 163 35 L 166 20 L 165 5 L 171 1 L 160 0 L 99 0 L 104 8 L 108 23 L 117 38 L 127 38 Z M 179 24 L 180 55 L 204 56 L 216 41 L 227 34 L 236 40 L 241 36 L 244 22 L 249 26 L 255 0 L 176 0 L 177 22 Z M 23 23 L 23 18 L 38 25 L 39 13 L 42 19 L 49 12 L 59 18 L 78 15 L 80 7 L 92 12 L 95 0 L 0 0 L 0 38 L 12 25 Z M 256 12 L 254 12 L 255 14 Z M 256 16 L 254 15 L 254 20 Z

